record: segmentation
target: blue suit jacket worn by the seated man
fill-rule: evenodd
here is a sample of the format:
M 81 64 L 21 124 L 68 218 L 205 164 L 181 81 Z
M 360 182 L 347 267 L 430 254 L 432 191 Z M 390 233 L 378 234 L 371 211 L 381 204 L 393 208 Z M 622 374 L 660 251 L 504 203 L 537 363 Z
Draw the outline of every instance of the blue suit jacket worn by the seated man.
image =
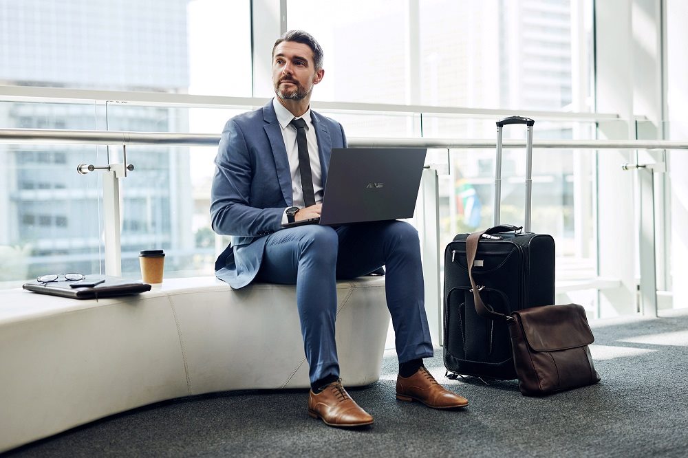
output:
M 332 148 L 345 147 L 346 137 L 338 122 L 315 111 L 311 118 L 325 186 Z M 218 234 L 233 236 L 215 262 L 215 275 L 240 288 L 255 278 L 266 236 L 281 229 L 283 212 L 293 202 L 287 151 L 272 100 L 227 121 L 215 166 L 211 223 Z

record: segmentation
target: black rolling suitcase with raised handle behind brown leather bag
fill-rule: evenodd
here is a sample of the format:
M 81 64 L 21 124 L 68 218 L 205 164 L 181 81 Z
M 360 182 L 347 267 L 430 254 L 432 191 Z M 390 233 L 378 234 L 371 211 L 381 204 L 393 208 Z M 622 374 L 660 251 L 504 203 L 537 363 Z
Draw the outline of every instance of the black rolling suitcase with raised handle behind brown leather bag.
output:
M 525 228 L 499 224 L 502 182 L 502 128 L 526 124 Z M 550 235 L 530 232 L 533 175 L 533 124 L 512 116 L 497 122 L 494 227 L 478 244 L 473 278 L 482 285 L 481 296 L 495 312 L 551 305 L 555 301 L 555 242 Z M 448 376 L 517 378 L 511 339 L 504 320 L 483 318 L 475 312 L 466 267 L 466 237 L 459 234 L 444 250 L 444 367 Z M 453 374 L 453 375 L 451 375 Z

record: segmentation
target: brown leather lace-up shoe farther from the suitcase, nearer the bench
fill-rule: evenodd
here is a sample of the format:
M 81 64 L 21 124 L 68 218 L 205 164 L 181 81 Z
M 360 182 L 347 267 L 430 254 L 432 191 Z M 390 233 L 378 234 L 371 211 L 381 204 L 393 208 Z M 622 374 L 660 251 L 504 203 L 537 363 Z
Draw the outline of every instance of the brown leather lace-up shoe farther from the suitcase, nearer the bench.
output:
M 310 391 L 308 415 L 322 419 L 327 426 L 338 428 L 354 428 L 373 423 L 373 417 L 352 400 L 341 380 L 330 383 L 320 393 Z

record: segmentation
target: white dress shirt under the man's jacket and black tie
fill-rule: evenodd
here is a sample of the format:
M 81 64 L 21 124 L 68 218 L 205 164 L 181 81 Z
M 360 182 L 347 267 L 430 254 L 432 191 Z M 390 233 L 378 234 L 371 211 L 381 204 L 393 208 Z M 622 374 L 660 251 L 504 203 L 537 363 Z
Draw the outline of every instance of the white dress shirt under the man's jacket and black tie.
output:
M 277 100 L 272 99 L 272 106 L 275 107 L 275 114 L 277 115 L 277 122 L 282 131 L 282 139 L 284 140 L 284 147 L 287 150 L 287 160 L 289 161 L 289 172 L 292 177 L 292 197 L 294 199 L 293 205 L 295 207 L 303 208 L 303 186 L 301 186 L 301 172 L 299 171 L 299 145 L 297 144 L 297 128 L 290 125 L 294 119 L 294 115 L 283 107 Z M 315 135 L 315 128 L 310 117 L 310 107 L 308 111 L 300 116 L 305 121 L 305 137 L 308 140 L 308 155 L 310 156 L 310 170 L 313 175 L 313 190 L 315 193 L 315 201 L 319 203 L 323 201 L 323 171 L 320 166 L 320 154 L 318 149 L 318 138 Z M 286 214 L 282 216 L 282 222 L 286 223 Z

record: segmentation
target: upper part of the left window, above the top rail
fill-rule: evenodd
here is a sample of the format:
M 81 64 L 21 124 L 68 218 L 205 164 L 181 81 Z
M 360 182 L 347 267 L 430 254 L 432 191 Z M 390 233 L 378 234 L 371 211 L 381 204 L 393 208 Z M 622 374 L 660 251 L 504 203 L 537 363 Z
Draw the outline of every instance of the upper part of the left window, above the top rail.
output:
M 0 82 L 250 96 L 248 0 L 2 0 Z

